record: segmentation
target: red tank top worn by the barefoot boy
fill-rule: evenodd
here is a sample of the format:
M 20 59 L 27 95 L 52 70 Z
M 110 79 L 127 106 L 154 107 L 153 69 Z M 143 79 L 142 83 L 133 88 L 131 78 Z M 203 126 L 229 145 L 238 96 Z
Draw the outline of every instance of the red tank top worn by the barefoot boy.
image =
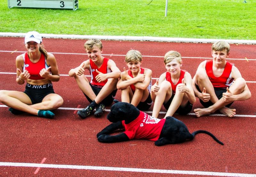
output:
M 212 82 L 212 86 L 215 88 L 227 88 L 232 85 L 233 83 L 233 78 L 231 77 L 231 70 L 232 66 L 234 65 L 233 63 L 229 63 L 227 61 L 224 71 L 221 74 L 220 77 L 215 77 L 212 71 L 212 60 L 206 60 L 205 64 L 205 70 L 206 73 Z

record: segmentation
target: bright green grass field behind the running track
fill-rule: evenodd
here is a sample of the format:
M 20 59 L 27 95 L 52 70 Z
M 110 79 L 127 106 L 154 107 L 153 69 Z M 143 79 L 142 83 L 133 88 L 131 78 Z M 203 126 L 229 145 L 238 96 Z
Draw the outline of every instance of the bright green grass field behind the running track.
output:
M 256 39 L 256 1 L 79 0 L 79 9 L 7 7 L 0 2 L 0 32 Z

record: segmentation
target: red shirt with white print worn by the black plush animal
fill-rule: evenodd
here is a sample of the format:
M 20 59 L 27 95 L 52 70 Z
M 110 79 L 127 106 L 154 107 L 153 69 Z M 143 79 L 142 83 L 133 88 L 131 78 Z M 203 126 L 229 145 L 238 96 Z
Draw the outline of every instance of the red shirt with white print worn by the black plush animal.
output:
M 124 133 L 129 139 L 149 139 L 156 141 L 160 136 L 164 122 L 165 119 L 151 117 L 145 112 L 140 111 L 139 117 L 131 123 L 125 124 L 123 120 L 122 124 L 125 129 Z

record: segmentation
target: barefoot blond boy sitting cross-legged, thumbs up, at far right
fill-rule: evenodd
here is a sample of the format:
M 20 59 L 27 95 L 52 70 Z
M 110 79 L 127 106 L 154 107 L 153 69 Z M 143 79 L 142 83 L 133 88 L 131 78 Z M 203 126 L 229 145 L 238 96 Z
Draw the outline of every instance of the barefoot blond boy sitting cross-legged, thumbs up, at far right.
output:
M 193 78 L 196 97 L 204 109 L 195 109 L 197 117 L 220 110 L 228 117 L 236 114 L 236 109 L 228 108 L 234 101 L 251 98 L 251 92 L 234 64 L 226 61 L 230 46 L 225 41 L 212 45 L 212 60 L 205 60 L 197 68 Z

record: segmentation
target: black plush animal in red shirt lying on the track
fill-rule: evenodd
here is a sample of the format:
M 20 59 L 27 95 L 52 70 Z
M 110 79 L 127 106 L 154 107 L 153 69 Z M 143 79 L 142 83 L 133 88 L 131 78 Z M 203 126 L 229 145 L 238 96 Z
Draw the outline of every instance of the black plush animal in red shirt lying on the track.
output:
M 155 145 L 182 143 L 192 140 L 198 133 L 206 133 L 215 141 L 223 145 L 212 133 L 198 130 L 189 133 L 187 126 L 174 117 L 157 119 L 138 110 L 129 103 L 115 103 L 108 114 L 108 120 L 113 122 L 97 134 L 98 141 L 102 143 L 114 143 L 128 141 L 130 139 L 149 139 L 155 141 Z M 118 135 L 109 133 L 124 128 L 125 131 Z

